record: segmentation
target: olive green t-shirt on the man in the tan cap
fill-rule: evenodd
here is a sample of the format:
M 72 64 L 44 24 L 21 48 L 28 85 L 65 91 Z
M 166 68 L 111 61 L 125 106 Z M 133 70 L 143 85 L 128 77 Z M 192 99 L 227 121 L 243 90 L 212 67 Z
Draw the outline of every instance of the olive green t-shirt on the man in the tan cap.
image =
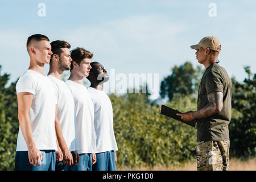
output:
M 231 119 L 232 82 L 226 70 L 217 63 L 210 65 L 204 72 L 199 86 L 197 110 L 209 104 L 207 95 L 211 92 L 223 93 L 223 108 L 220 113 L 196 119 L 197 142 L 229 140 L 228 125 Z

